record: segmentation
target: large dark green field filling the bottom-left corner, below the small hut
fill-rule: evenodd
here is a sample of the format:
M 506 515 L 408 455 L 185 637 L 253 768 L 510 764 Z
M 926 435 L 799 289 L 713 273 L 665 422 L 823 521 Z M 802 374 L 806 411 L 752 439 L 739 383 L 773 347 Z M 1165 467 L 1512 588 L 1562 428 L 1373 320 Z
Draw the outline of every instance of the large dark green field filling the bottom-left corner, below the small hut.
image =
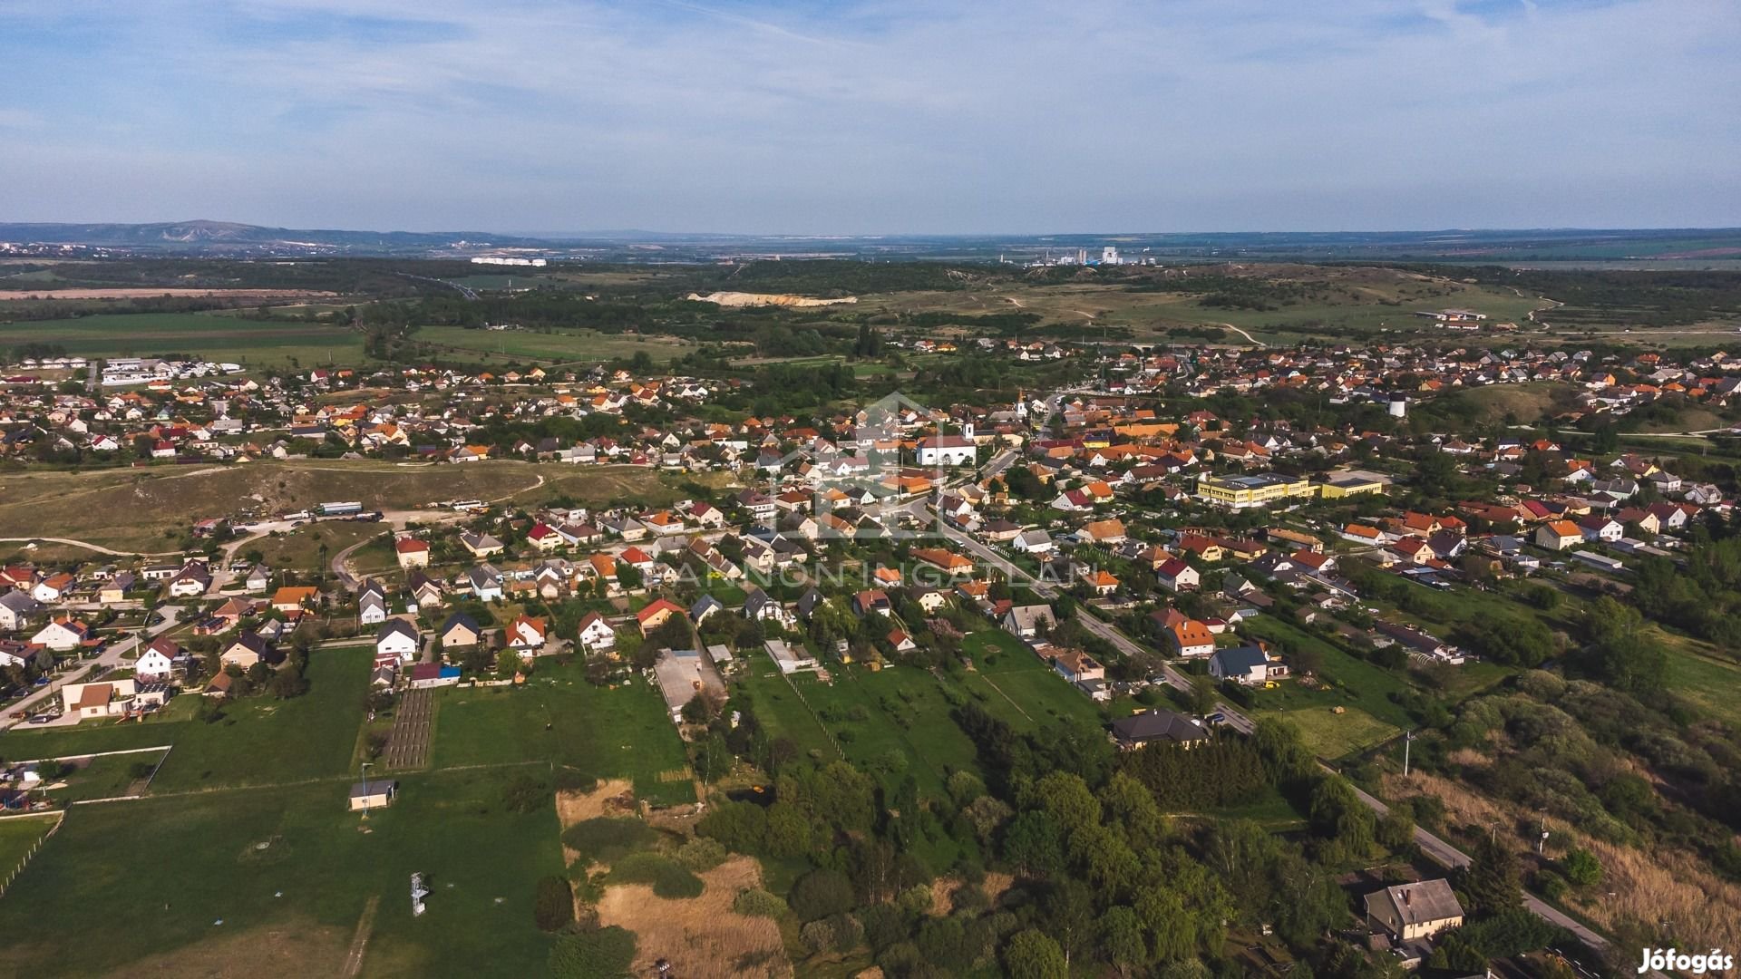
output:
M 543 974 L 531 904 L 533 881 L 562 869 L 555 812 L 508 812 L 503 784 L 406 777 L 367 833 L 343 782 L 80 807 L 0 901 L 0 972 L 339 976 L 380 899 L 362 976 Z M 434 890 L 421 918 L 414 871 Z M 103 941 L 44 922 L 101 922 Z

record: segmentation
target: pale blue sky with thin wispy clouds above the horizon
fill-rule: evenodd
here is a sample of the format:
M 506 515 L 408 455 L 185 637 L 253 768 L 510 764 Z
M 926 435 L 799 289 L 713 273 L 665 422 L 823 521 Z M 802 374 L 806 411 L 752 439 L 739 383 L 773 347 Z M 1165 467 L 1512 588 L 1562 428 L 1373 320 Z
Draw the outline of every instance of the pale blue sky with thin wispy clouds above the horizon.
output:
M 1734 0 L 0 0 L 0 219 L 1734 226 L 1738 51 Z

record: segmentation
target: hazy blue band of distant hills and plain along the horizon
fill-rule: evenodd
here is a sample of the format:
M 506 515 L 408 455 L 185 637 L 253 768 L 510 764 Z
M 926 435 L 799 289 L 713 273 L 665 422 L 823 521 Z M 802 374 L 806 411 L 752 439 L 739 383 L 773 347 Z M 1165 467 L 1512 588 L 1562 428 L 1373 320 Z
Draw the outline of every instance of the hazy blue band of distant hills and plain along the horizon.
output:
M 1741 267 L 1741 228 L 1475 228 L 1426 232 L 1065 232 L 776 235 L 707 232 L 359 232 L 235 221 L 0 223 L 0 253 L 57 258 L 78 249 L 214 258 L 446 258 L 514 254 L 552 261 L 689 263 L 756 258 L 872 261 L 1626 261 Z

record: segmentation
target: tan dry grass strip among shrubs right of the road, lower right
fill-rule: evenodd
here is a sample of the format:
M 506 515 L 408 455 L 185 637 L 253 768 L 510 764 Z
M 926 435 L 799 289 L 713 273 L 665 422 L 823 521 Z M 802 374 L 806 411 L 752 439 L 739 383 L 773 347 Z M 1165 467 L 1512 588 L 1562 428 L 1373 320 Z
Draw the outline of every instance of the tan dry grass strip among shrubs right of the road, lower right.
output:
M 1523 814 L 1471 793 L 1466 786 L 1438 775 L 1415 772 L 1386 775 L 1384 793 L 1389 798 L 1407 798 L 1421 793 L 1445 801 L 1445 814 L 1454 824 L 1501 826 Z M 1591 894 L 1579 895 L 1572 906 L 1603 928 L 1624 920 L 1647 925 L 1671 922 L 1675 937 L 1694 948 L 1741 948 L 1741 887 L 1729 883 L 1704 868 L 1703 861 L 1687 850 L 1657 848 L 1644 852 L 1579 834 L 1572 826 L 1549 819 L 1551 840 L 1577 840 L 1577 845 L 1602 861 L 1602 883 Z M 1520 854 L 1529 843 L 1515 834 L 1502 836 L 1516 845 Z

